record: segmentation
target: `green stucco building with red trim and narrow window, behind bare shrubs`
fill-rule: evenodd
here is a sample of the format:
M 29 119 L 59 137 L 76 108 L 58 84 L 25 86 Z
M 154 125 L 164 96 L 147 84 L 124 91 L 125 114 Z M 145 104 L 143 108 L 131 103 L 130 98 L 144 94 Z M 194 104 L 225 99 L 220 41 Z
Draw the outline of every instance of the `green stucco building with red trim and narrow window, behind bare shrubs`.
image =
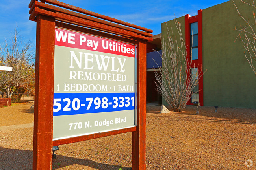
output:
M 250 17 L 250 22 L 254 21 L 252 11 L 256 9 L 240 0 L 235 2 L 241 14 L 247 19 Z M 207 69 L 199 80 L 201 91 L 193 94 L 188 104 L 199 101 L 204 106 L 256 108 L 256 76 L 245 58 L 240 38 L 236 40 L 239 31 L 234 30 L 245 26 L 245 22 L 233 2 L 198 10 L 198 15 L 185 15 L 177 21 L 182 26 L 187 55 L 193 51 L 192 64 L 198 66 L 199 71 L 201 66 L 202 71 Z M 167 37 L 167 27 L 175 33 L 174 20 L 162 23 L 162 40 Z M 256 66 L 256 62 L 254 64 Z

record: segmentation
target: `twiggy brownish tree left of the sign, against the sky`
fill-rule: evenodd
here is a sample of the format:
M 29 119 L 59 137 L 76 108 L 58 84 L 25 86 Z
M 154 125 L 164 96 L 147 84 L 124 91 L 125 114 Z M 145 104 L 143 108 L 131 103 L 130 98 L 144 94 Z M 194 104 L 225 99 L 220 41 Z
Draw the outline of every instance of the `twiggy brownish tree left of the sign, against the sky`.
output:
M 13 71 L 0 71 L 0 87 L 10 98 L 16 87 L 22 87 L 27 91 L 33 91 L 35 79 L 35 60 L 34 51 L 31 42 L 22 43 L 22 37 L 19 36 L 17 27 L 11 43 L 5 40 L 0 45 L 0 66 L 9 66 Z

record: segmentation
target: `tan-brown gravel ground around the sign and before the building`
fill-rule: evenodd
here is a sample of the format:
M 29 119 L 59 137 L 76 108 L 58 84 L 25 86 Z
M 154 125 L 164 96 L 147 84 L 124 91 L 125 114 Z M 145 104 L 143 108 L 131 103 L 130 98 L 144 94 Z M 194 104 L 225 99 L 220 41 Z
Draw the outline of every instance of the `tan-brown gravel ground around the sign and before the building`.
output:
M 31 105 L 0 108 L 0 170 L 32 169 Z M 256 169 L 256 109 L 160 108 L 147 107 L 147 170 Z M 54 170 L 132 170 L 132 133 L 61 145 L 56 154 Z

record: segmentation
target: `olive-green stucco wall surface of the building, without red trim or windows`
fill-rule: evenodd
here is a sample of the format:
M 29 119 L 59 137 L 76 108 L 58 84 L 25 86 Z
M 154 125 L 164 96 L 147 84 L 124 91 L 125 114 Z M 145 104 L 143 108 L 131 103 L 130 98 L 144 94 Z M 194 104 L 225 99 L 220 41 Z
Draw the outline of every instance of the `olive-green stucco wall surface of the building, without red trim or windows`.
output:
M 236 2 L 241 13 L 252 20 L 253 9 Z M 184 23 L 184 17 L 178 21 Z M 236 40 L 239 32 L 233 30 L 241 24 L 244 22 L 232 1 L 202 10 L 203 70 L 207 69 L 203 76 L 204 106 L 256 108 L 256 77 L 242 43 Z M 162 35 L 166 32 L 164 25 Z M 174 20 L 167 22 L 168 27 L 171 25 L 175 26 Z

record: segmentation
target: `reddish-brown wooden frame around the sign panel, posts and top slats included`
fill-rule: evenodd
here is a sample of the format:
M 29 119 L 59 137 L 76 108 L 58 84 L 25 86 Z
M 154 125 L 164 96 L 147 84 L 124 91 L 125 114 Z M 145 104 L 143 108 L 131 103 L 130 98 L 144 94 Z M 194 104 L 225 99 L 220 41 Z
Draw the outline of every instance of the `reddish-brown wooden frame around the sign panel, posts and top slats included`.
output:
M 52 146 L 132 132 L 132 169 L 145 170 L 146 43 L 152 30 L 56 0 L 31 0 L 30 20 L 37 22 L 33 170 L 52 169 Z M 137 126 L 52 141 L 55 27 L 137 45 Z

